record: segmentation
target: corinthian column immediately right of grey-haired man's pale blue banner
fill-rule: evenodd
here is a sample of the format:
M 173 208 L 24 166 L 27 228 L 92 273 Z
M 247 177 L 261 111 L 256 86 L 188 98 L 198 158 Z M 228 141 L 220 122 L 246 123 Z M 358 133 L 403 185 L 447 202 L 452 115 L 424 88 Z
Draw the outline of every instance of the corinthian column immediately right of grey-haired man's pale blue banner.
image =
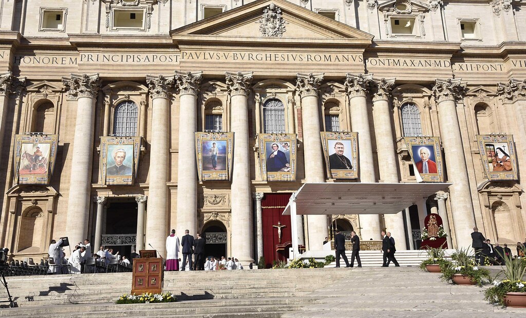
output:
M 148 191 L 148 213 L 146 215 L 146 246 L 151 244 L 163 257 L 166 255 L 165 239 L 168 233 L 168 181 L 170 97 L 174 88 L 174 77 L 146 76 L 152 98 L 151 144 Z

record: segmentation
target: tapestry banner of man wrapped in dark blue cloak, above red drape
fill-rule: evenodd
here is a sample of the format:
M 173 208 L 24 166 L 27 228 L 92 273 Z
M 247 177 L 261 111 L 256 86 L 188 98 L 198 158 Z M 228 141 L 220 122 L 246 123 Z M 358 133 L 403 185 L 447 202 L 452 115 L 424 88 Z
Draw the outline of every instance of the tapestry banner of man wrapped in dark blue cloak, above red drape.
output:
M 296 134 L 260 134 L 259 167 L 267 181 L 296 180 Z

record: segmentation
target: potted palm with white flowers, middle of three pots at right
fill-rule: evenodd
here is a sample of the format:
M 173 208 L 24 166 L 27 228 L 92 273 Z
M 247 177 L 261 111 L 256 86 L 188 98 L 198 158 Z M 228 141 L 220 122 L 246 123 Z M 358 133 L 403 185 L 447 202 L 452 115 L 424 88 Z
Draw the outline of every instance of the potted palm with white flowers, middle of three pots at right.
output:
M 479 286 L 490 281 L 490 272 L 476 266 L 469 249 L 455 249 L 455 252 L 451 254 L 451 259 L 453 262 L 442 269 L 442 276 L 440 276 L 442 280 L 452 281 L 458 285 L 477 284 Z

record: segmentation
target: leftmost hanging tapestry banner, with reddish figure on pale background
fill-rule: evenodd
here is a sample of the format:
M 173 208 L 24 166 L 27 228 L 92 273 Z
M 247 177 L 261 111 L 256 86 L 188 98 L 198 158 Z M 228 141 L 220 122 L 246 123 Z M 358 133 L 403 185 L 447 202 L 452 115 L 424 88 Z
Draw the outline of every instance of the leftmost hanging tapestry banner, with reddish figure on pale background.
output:
M 49 184 L 55 166 L 58 135 L 15 136 L 15 180 Z

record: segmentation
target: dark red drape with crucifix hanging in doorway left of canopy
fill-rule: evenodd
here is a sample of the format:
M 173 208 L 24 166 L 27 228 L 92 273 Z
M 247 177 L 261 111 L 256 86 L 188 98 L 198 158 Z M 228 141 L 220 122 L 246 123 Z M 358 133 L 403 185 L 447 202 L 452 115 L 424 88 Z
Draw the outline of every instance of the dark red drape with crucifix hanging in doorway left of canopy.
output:
M 266 268 L 274 261 L 285 261 L 292 246 L 290 216 L 282 216 L 291 193 L 265 193 L 261 200 L 263 223 L 263 256 Z M 279 237 L 281 235 L 281 238 Z

